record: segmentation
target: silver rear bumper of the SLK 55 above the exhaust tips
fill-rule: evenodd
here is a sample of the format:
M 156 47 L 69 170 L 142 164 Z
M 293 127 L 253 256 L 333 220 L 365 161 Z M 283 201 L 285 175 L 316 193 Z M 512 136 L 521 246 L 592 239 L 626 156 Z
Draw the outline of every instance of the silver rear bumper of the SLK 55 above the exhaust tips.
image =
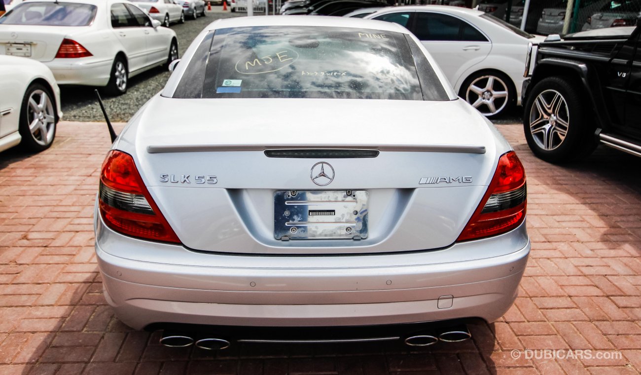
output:
M 99 232 L 110 231 L 101 221 L 97 225 Z M 525 224 L 496 243 L 509 246 L 523 235 Z M 435 264 L 429 264 L 433 252 L 427 251 L 326 257 L 208 253 L 212 265 L 175 265 L 151 262 L 153 249 L 138 246 L 148 242 L 113 232 L 108 237 L 96 244 L 104 296 L 119 319 L 136 329 L 161 322 L 272 327 L 467 317 L 492 322 L 517 296 L 530 249 L 526 240 L 502 256 Z M 109 248 L 115 246 L 131 247 L 131 254 L 151 250 L 150 262 L 114 256 Z M 193 253 L 175 247 L 177 254 Z M 372 257 L 380 265 L 372 266 Z

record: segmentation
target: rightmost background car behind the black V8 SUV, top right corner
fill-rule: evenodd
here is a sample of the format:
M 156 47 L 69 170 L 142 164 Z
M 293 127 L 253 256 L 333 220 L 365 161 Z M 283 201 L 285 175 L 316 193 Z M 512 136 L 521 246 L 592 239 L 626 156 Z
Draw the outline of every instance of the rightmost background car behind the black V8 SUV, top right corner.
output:
M 599 13 L 588 17 L 583 30 L 634 26 L 639 15 L 641 15 L 641 0 L 613 0 L 605 4 Z

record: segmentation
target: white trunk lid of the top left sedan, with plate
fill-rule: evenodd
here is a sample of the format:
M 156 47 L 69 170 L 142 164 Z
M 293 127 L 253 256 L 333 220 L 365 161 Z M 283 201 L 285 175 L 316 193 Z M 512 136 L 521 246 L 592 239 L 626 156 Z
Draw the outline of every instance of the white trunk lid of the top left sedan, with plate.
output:
M 59 27 L 59 26 L 32 26 L 32 25 L 3 25 L 0 24 L 0 54 L 15 54 L 20 46 L 28 49 L 28 54 L 17 54 L 49 62 L 56 57 L 63 38 L 75 33 L 87 33 L 88 26 Z M 12 52 L 13 51 L 13 52 Z M 91 52 L 91 51 L 90 51 Z

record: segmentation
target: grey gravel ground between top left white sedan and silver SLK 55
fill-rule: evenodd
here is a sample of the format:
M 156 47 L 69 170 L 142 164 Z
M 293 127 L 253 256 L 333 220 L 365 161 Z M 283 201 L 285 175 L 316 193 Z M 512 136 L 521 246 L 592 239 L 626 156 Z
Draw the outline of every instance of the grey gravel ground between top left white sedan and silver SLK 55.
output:
M 217 7 L 220 8 L 220 7 Z M 244 13 L 208 13 L 207 17 L 188 20 L 184 24 L 172 24 L 178 37 L 179 54 L 187 49 L 205 26 L 216 19 L 239 17 Z M 104 106 L 111 121 L 129 121 L 138 109 L 158 91 L 162 90 L 170 73 L 157 67 L 129 79 L 127 93 L 117 97 L 103 97 Z M 60 87 L 63 119 L 66 121 L 104 121 L 103 113 L 94 94 L 95 87 Z

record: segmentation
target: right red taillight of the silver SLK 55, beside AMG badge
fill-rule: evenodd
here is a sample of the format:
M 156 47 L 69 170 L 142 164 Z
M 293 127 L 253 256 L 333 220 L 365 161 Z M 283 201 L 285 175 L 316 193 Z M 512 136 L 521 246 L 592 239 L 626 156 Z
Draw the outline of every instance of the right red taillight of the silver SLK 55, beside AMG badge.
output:
M 517 228 L 527 205 L 525 170 L 514 151 L 499 159 L 492 182 L 457 241 L 500 235 Z

